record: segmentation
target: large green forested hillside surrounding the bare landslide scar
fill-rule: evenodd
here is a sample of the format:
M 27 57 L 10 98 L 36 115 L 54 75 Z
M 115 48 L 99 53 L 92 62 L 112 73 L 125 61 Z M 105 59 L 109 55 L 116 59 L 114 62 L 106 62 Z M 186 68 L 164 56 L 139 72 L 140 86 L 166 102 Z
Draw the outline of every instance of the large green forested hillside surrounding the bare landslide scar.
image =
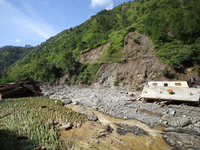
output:
M 50 83 L 67 73 L 73 83 L 91 83 L 101 63 L 123 61 L 124 37 L 135 30 L 151 38 L 156 56 L 176 72 L 182 66 L 195 66 L 200 74 L 199 14 L 199 0 L 135 0 L 102 10 L 34 47 L 8 69 L 2 82 L 30 76 Z M 107 42 L 110 46 L 98 63 L 76 61 L 82 53 Z

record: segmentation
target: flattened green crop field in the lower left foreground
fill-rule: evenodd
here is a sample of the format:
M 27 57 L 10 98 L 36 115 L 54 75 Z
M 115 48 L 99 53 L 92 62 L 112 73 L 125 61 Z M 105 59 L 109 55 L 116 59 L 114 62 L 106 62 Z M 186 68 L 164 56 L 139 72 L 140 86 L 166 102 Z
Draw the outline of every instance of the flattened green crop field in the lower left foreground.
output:
M 71 143 L 61 141 L 58 128 L 49 122 L 84 122 L 85 119 L 85 115 L 63 107 L 62 102 L 55 103 L 55 100 L 46 97 L 1 100 L 1 150 L 32 150 L 39 146 L 46 149 L 70 148 Z

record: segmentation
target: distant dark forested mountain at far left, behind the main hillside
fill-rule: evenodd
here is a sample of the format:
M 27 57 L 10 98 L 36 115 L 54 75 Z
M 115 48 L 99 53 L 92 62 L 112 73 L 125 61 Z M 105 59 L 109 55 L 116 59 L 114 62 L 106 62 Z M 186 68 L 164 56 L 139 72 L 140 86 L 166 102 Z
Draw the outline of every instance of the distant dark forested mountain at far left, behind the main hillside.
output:
M 6 68 L 14 64 L 17 60 L 22 59 L 32 50 L 30 45 L 26 47 L 20 46 L 4 46 L 0 48 L 0 78 L 6 73 Z

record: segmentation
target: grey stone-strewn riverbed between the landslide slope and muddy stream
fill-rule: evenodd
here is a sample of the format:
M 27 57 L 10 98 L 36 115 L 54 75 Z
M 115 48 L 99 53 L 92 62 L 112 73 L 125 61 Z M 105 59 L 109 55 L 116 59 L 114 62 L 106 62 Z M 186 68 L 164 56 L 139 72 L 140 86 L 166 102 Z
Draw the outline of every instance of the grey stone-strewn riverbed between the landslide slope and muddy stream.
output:
M 92 85 L 43 87 L 44 96 L 60 99 L 65 105 L 84 105 L 124 120 L 136 119 L 152 128 L 164 126 L 163 138 L 174 149 L 200 149 L 200 107 L 136 100 L 141 91 L 122 87 Z M 88 115 L 89 120 L 98 118 Z

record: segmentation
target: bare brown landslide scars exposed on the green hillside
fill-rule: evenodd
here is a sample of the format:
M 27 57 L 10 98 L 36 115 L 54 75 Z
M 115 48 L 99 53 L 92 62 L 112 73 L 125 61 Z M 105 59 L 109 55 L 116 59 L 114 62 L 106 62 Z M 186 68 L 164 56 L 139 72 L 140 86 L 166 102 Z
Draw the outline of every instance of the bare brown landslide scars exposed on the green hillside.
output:
M 109 45 L 110 43 L 106 43 L 82 54 L 78 59 L 79 62 L 100 62 L 103 52 L 106 51 Z M 102 63 L 93 83 L 105 86 L 135 87 L 149 80 L 169 80 L 162 73 L 166 67 L 179 80 L 188 80 L 191 77 L 198 79 L 198 75 L 193 68 L 184 68 L 184 71 L 178 74 L 162 63 L 154 54 L 151 39 L 138 31 L 130 32 L 124 37 L 120 59 L 122 60 L 121 63 Z

